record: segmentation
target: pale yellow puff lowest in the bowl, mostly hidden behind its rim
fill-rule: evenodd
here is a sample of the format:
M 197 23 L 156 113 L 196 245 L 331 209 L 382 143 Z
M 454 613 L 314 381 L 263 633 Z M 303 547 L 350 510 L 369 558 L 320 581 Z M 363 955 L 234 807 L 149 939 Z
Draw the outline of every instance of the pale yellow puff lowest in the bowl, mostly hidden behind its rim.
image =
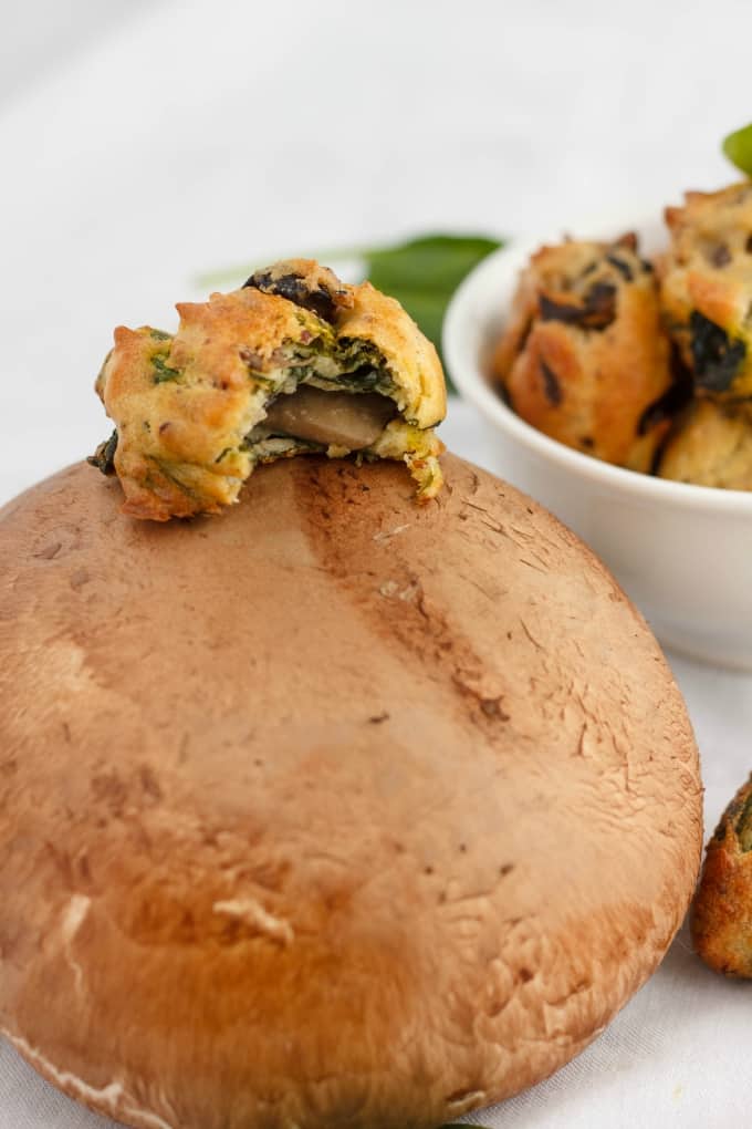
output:
M 657 474 L 676 482 L 752 490 L 752 406 L 693 400 L 671 430 Z

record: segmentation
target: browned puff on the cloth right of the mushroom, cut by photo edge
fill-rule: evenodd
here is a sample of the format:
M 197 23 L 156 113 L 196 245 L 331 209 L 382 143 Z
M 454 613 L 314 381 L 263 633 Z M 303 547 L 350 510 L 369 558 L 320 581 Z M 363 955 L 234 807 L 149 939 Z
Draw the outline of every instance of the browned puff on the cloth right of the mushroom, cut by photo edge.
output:
M 752 777 L 708 843 L 691 930 L 695 947 L 711 969 L 752 977 Z

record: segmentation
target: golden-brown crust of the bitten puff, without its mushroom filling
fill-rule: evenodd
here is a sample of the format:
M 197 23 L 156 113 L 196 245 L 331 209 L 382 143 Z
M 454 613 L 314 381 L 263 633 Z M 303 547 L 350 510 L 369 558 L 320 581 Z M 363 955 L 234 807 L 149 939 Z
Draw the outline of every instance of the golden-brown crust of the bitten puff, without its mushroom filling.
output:
M 350 339 L 375 347 L 388 367 L 384 394 L 407 423 L 401 449 L 392 429 L 389 443 L 364 454 L 410 467 L 431 461 L 430 473 L 416 470 L 414 476 L 422 498 L 437 492 L 441 444 L 431 428 L 445 412 L 443 373 L 433 345 L 393 299 L 368 283 L 347 286 L 310 260 L 289 260 L 257 272 L 240 290 L 177 309 L 175 336 L 150 327 L 116 330 L 97 379 L 117 429 L 114 467 L 125 513 L 153 520 L 219 513 L 237 501 L 257 462 L 310 449 L 262 448 L 248 436 L 263 423 L 271 397 L 293 391 L 307 365 Z M 342 358 L 338 366 L 346 371 Z M 386 447 L 390 455 L 380 454 Z M 348 453 L 329 449 L 333 457 Z

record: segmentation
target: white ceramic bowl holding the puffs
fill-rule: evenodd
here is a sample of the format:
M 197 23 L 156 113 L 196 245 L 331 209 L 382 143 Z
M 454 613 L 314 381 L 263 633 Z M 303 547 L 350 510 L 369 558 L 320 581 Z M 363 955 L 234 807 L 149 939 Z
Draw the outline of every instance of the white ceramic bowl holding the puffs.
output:
M 634 227 L 574 230 L 607 239 Z M 662 238 L 654 224 L 637 230 L 647 253 Z M 595 550 L 663 644 L 752 671 L 752 493 L 669 482 L 572 450 L 523 422 L 486 383 L 519 271 L 558 238 L 515 243 L 468 275 L 444 322 L 452 379 L 493 434 L 495 470 Z

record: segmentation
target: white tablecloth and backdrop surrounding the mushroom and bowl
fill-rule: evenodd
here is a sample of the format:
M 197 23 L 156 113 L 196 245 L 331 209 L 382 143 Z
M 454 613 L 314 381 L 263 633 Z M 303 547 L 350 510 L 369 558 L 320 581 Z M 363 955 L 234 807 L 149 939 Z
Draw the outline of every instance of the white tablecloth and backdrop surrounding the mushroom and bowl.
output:
M 718 142 L 752 116 L 749 0 L 64 9 L 64 26 L 55 0 L 14 11 L 0 51 L 0 500 L 107 434 L 90 386 L 112 327 L 169 327 L 200 272 L 431 229 L 550 230 L 625 202 L 657 211 L 732 178 Z M 469 408 L 444 438 L 492 462 Z M 752 767 L 752 679 L 671 662 L 709 831 Z M 680 935 L 585 1053 L 470 1120 L 747 1124 L 751 994 Z M 106 1123 L 0 1048 L 0 1129 Z

